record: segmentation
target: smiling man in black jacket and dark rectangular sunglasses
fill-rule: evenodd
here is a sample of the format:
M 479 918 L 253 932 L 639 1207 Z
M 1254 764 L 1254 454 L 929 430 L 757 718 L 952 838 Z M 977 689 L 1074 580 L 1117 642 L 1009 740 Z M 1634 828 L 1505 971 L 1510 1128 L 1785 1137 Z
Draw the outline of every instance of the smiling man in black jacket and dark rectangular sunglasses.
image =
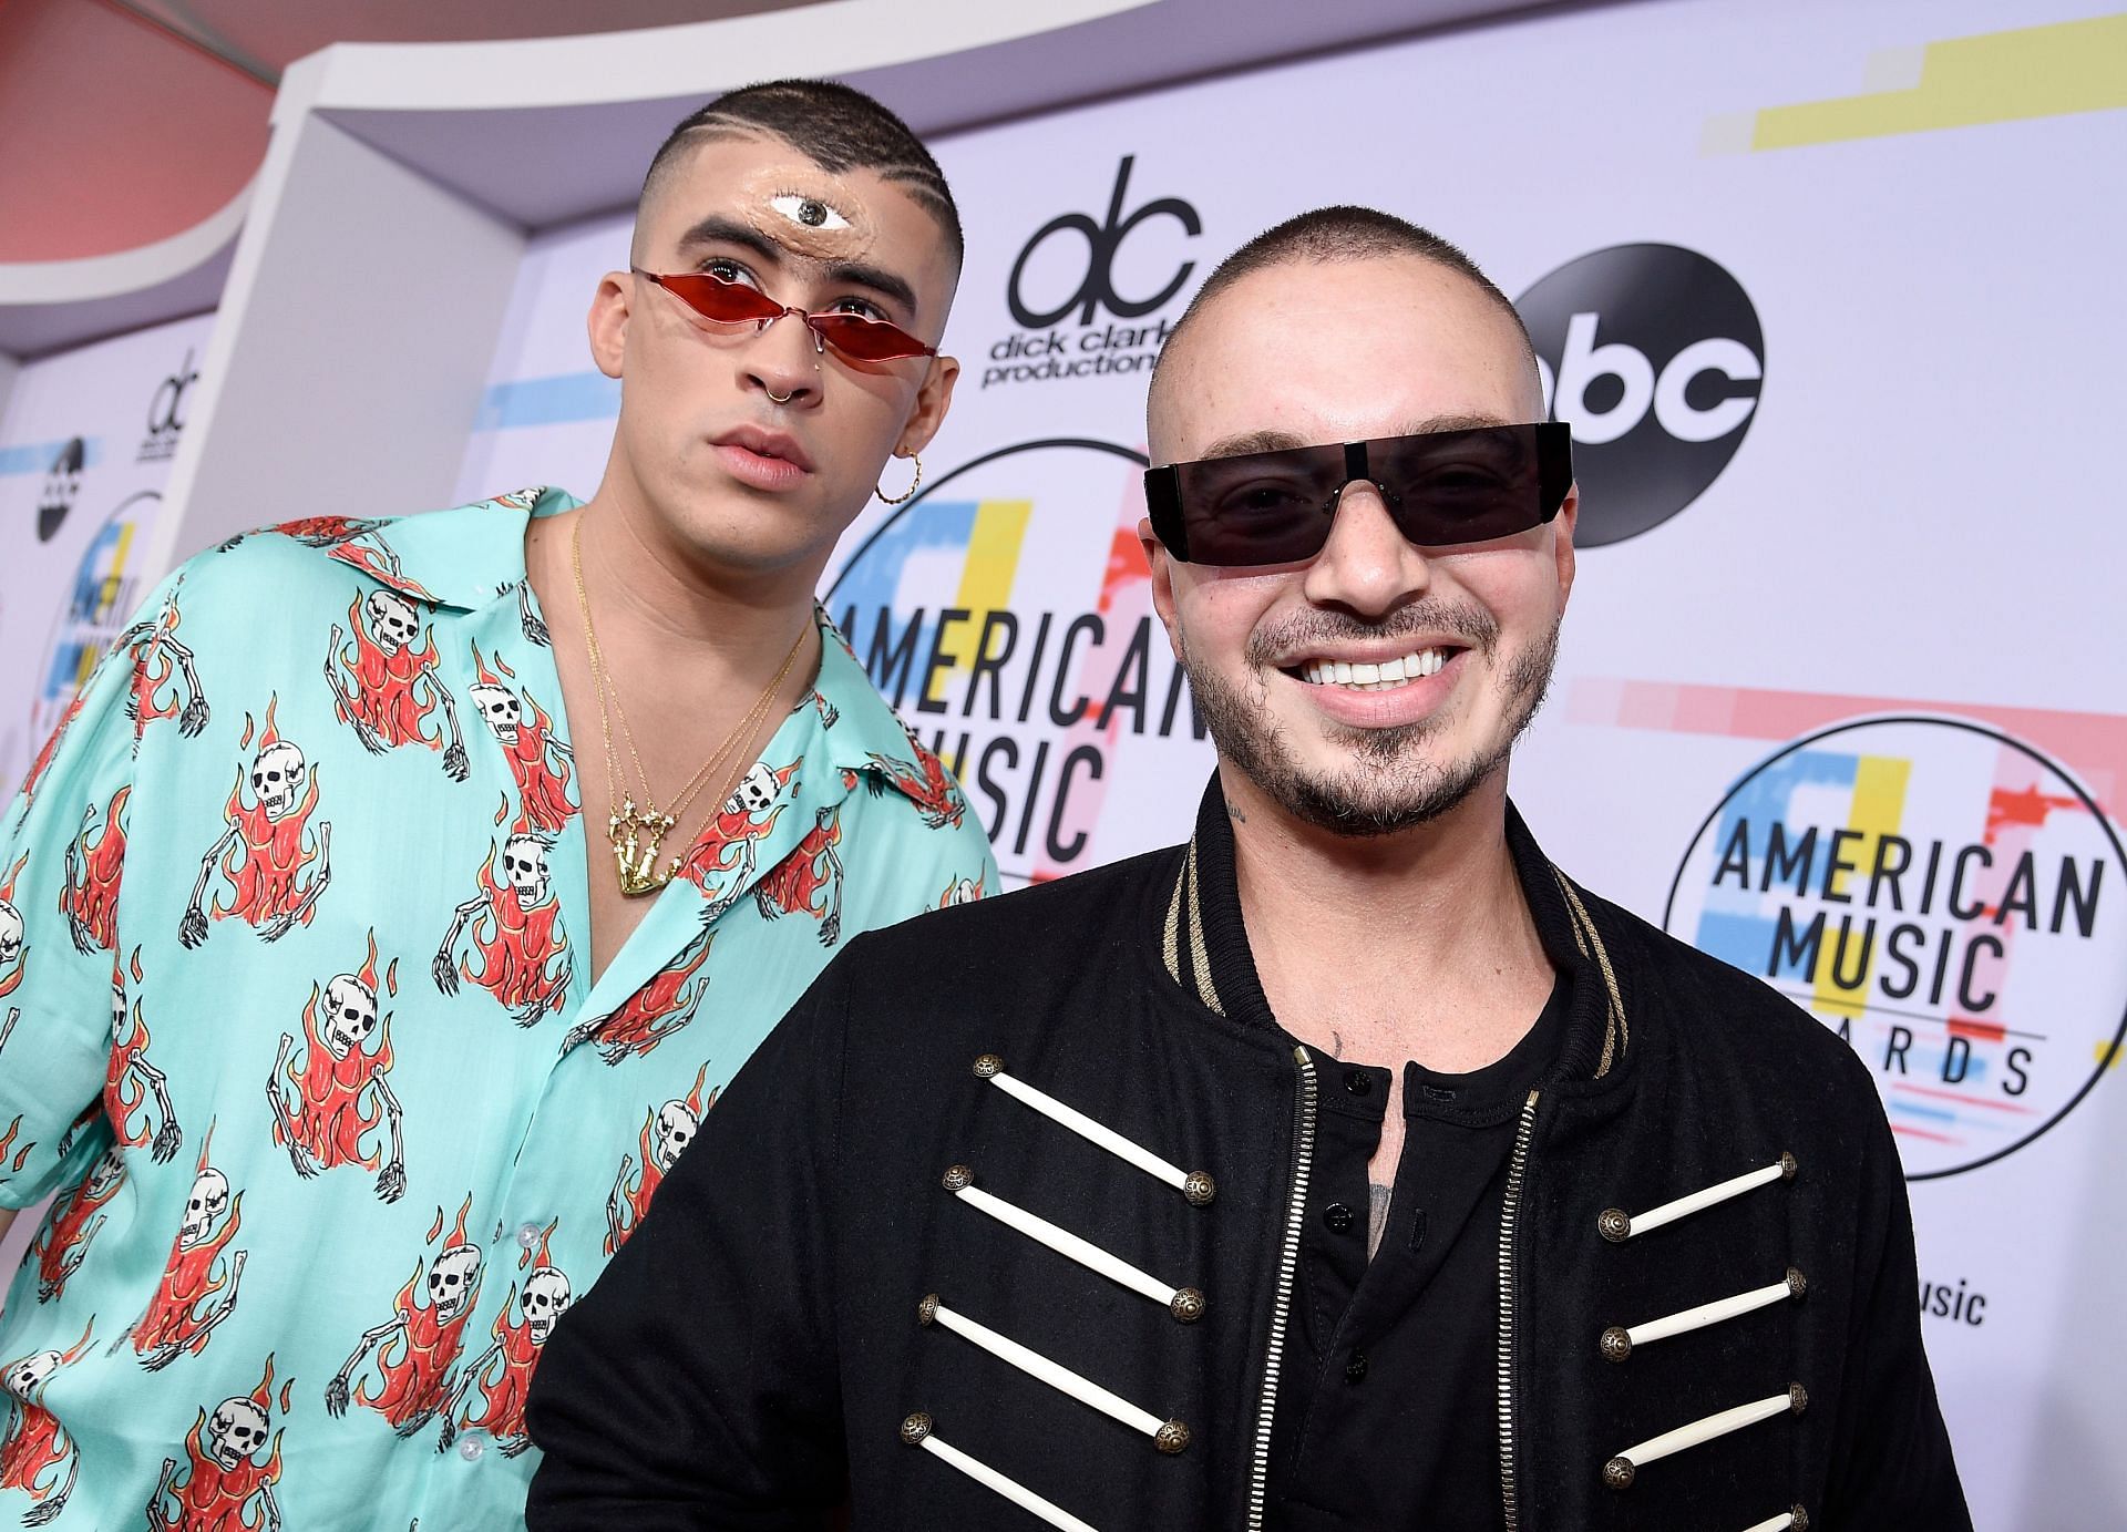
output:
M 1967 1528 L 1865 1070 L 1506 798 L 1508 300 L 1310 213 L 1149 413 L 1195 834 L 851 945 L 549 1340 L 532 1528 Z

